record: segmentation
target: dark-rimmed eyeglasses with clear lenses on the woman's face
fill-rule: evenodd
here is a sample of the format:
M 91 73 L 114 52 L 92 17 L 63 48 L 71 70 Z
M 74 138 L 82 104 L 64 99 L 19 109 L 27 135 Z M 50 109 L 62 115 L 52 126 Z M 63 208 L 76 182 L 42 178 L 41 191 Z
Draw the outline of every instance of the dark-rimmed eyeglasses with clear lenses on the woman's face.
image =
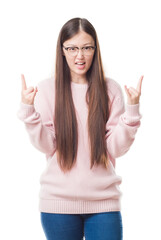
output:
M 83 55 L 85 56 L 90 56 L 93 54 L 94 50 L 96 49 L 95 46 L 85 46 L 85 47 L 65 47 L 63 46 L 63 48 L 67 51 L 67 53 L 70 55 L 70 56 L 76 56 L 79 52 L 79 50 L 82 51 Z

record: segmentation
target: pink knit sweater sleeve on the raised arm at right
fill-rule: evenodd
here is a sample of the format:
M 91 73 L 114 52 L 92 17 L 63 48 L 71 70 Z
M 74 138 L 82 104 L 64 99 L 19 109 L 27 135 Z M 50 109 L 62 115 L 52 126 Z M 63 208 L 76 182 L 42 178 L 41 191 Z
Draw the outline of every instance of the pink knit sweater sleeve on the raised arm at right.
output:
M 120 90 L 119 96 L 114 98 L 110 116 L 106 123 L 107 151 L 113 158 L 124 155 L 132 145 L 137 129 L 140 126 L 141 115 L 139 104 L 124 105 Z

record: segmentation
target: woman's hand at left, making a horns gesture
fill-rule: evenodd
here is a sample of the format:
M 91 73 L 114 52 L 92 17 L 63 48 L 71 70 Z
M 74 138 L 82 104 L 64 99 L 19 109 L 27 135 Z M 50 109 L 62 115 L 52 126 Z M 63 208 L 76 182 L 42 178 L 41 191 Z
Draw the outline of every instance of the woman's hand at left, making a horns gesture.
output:
M 21 81 L 22 81 L 22 91 L 21 91 L 21 101 L 25 104 L 33 105 L 34 99 L 37 93 L 37 87 L 35 89 L 33 87 L 27 88 L 25 77 L 21 74 Z

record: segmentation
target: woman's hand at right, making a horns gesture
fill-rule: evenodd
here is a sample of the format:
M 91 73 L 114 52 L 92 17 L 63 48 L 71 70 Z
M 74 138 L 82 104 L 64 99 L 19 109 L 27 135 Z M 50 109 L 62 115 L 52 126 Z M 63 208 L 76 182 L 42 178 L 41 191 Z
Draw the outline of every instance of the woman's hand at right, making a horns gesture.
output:
M 127 86 L 125 85 L 125 92 L 127 94 L 127 104 L 134 105 L 139 103 L 143 78 L 144 76 L 141 76 L 136 89 L 133 87 L 127 88 Z

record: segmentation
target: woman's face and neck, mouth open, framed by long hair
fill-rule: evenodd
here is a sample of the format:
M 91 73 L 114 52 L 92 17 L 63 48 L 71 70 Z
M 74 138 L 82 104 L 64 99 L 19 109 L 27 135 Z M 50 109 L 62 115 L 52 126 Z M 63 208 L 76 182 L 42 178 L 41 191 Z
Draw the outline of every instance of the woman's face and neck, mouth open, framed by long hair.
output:
M 65 48 L 68 47 L 87 47 L 87 46 L 95 46 L 94 39 L 91 35 L 87 34 L 84 31 L 80 31 L 74 37 L 68 39 L 63 43 Z M 72 78 L 85 78 L 87 71 L 89 70 L 93 56 L 94 50 L 87 55 L 83 53 L 82 50 L 79 49 L 76 56 L 70 55 L 70 53 L 63 48 L 64 56 L 66 58 L 67 64 L 71 71 Z

